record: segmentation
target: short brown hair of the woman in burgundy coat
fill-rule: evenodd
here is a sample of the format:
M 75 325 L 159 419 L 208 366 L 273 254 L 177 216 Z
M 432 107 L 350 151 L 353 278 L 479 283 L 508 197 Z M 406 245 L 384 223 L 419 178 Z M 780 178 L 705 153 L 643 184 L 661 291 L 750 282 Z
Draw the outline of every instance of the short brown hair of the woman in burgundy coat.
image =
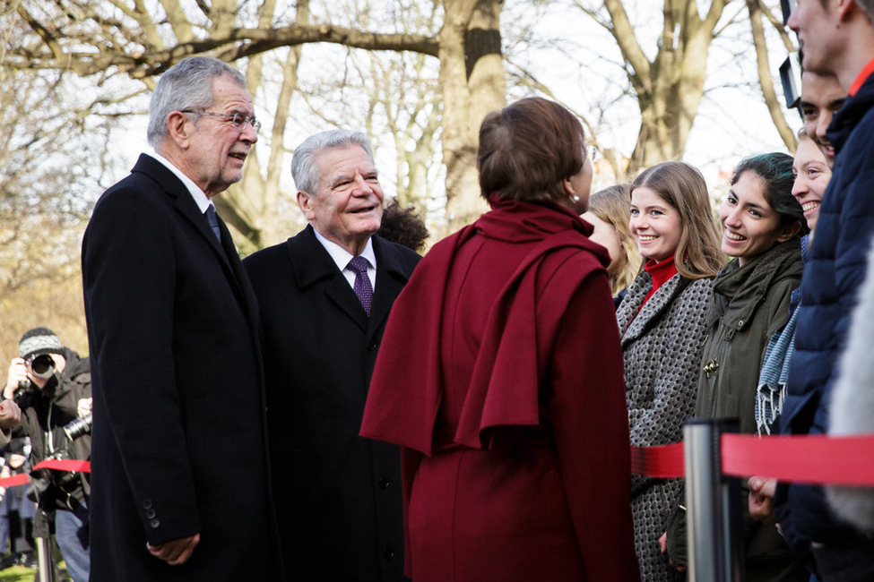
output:
M 565 107 L 540 97 L 493 111 L 480 125 L 480 194 L 501 200 L 558 201 L 562 182 L 585 162 L 583 124 Z

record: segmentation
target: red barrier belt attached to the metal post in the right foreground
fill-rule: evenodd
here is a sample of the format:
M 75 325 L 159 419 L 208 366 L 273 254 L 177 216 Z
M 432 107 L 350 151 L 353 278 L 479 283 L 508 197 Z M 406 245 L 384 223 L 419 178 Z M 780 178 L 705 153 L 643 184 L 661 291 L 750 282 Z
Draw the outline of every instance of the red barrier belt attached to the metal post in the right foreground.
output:
M 722 436 L 724 475 L 761 475 L 778 481 L 874 487 L 874 434 Z M 632 447 L 631 472 L 650 477 L 682 477 L 683 443 Z

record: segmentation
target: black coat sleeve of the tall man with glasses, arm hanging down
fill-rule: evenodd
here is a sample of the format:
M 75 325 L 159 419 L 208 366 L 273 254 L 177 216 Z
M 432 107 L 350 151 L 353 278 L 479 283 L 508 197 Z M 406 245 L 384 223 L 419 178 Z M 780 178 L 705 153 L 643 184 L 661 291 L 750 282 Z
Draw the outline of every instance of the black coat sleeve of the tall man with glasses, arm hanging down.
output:
M 172 232 L 180 225 L 134 188 L 108 194 L 82 243 L 94 415 L 103 416 L 94 436 L 117 449 L 146 538 L 158 544 L 201 528 L 176 385 L 174 297 L 186 281 L 177 278 Z

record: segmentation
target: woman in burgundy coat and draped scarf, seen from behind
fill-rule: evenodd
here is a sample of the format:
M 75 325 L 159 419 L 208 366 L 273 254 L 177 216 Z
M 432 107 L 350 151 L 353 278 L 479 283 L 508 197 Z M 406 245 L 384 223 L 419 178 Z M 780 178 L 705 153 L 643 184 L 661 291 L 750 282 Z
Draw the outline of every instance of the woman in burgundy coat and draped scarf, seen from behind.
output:
M 413 582 L 637 580 L 622 351 L 588 239 L 592 163 L 567 109 L 480 127 L 492 210 L 394 304 L 361 434 L 402 446 Z

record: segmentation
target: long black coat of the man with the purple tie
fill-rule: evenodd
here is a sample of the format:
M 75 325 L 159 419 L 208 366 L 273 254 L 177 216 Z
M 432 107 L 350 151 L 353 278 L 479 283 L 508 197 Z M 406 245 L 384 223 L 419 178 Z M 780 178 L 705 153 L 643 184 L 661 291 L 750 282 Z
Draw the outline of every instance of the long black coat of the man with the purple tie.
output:
M 290 580 L 402 579 L 399 452 L 359 429 L 388 312 L 420 257 L 378 237 L 373 247 L 369 319 L 313 227 L 243 261 L 261 305 Z

